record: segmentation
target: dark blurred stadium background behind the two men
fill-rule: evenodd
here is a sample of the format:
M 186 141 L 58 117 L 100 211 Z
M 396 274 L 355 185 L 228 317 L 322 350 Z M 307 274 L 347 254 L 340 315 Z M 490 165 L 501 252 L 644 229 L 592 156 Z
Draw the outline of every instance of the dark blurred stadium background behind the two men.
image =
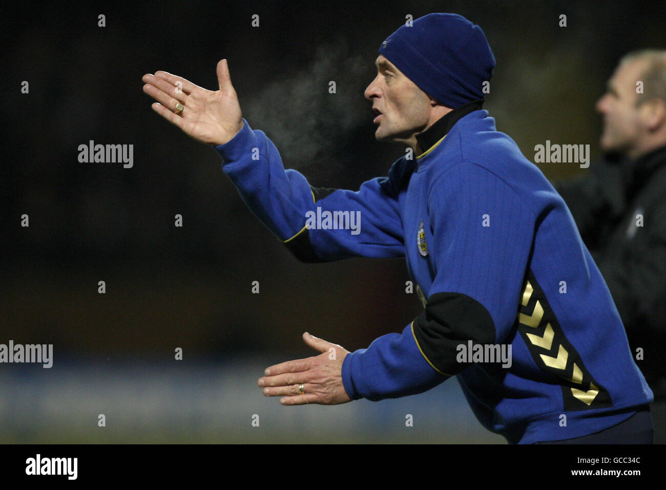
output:
M 264 367 L 314 353 L 303 331 L 352 351 L 402 331 L 420 313 L 416 295 L 405 293 L 404 260 L 299 263 L 242 203 L 212 148 L 153 112 L 141 77 L 164 70 L 216 89 L 216 63 L 228 59 L 243 116 L 272 139 L 285 166 L 312 185 L 358 189 L 404 154 L 374 140 L 363 97 L 380 43 L 408 14 L 460 13 L 482 27 L 496 56 L 484 109 L 498 129 L 530 160 L 547 139 L 589 144 L 594 157 L 594 103 L 621 55 L 663 47 L 663 5 L 16 7 L 3 22 L 0 343 L 53 343 L 54 367 L 0 365 L 0 441 L 288 441 L 290 417 L 304 413 L 312 427 L 331 424 L 315 441 L 503 441 L 480 427 L 454 380 L 439 394 L 292 412 L 260 395 L 254 383 Z M 98 27 L 100 14 L 106 27 Z M 567 27 L 558 25 L 561 14 Z M 331 80 L 336 94 L 328 93 Z M 79 163 L 78 147 L 89 140 L 134 145 L 133 167 Z M 571 163 L 541 169 L 550 179 L 583 171 Z M 23 214 L 29 227 L 21 227 Z M 182 227 L 174 227 L 176 214 Z M 173 359 L 176 347 L 182 361 Z M 455 407 L 458 419 L 428 419 Z M 426 409 L 405 431 L 404 414 Z M 97 426 L 99 413 L 107 427 Z M 250 427 L 254 413 L 265 414 L 260 435 Z M 336 417 L 362 429 L 340 432 Z

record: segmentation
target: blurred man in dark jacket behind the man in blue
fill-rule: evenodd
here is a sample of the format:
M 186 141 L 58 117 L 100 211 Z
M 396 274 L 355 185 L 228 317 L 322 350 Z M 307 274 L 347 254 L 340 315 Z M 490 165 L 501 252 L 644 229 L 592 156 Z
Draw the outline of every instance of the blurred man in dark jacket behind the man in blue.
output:
M 655 395 L 666 442 L 666 51 L 625 55 L 597 101 L 605 156 L 555 183 L 599 266 Z

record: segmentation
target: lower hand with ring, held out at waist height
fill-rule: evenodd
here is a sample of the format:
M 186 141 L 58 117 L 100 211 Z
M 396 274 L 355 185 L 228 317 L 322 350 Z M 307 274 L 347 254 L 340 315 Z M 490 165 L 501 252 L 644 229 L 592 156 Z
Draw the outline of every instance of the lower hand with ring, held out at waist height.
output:
M 258 381 L 264 395 L 283 397 L 282 405 L 337 405 L 352 401 L 342 384 L 342 362 L 349 351 L 307 332 L 303 340 L 322 354 L 268 367 L 266 376 Z M 299 385 L 303 385 L 302 394 Z

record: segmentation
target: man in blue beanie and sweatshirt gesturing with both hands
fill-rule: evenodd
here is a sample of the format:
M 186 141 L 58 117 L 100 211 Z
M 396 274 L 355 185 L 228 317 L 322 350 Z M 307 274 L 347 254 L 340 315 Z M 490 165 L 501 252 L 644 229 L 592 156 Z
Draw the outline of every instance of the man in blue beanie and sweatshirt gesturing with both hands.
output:
M 264 395 L 380 400 L 457 375 L 479 421 L 509 443 L 651 443 L 653 395 L 599 269 L 561 197 L 482 109 L 495 59 L 480 27 L 434 13 L 379 52 L 365 92 L 376 138 L 414 157 L 358 191 L 285 170 L 242 118 L 226 60 L 215 92 L 165 72 L 143 78 L 153 109 L 214 145 L 242 199 L 296 257 L 406 257 L 417 284 L 424 311 L 402 333 L 354 353 L 304 333 L 321 354 L 266 369 Z M 355 216 L 362 226 L 350 226 Z

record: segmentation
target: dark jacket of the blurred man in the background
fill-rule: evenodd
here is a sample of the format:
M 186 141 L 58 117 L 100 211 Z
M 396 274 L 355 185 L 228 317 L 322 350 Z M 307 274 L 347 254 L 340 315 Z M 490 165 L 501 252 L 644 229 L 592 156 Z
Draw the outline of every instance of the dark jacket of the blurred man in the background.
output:
M 553 183 L 611 291 L 636 363 L 666 398 L 666 146 Z M 642 216 L 642 223 L 641 223 Z M 642 226 L 641 226 L 642 225 Z

